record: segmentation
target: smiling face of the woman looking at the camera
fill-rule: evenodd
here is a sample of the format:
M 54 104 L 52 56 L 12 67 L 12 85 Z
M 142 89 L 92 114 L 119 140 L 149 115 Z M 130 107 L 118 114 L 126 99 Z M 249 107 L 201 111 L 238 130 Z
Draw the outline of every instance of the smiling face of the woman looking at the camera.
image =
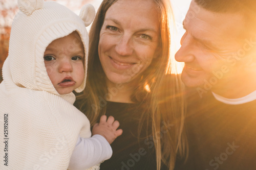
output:
M 99 38 L 99 59 L 107 81 L 136 80 L 157 56 L 159 17 L 148 0 L 119 0 L 106 11 Z

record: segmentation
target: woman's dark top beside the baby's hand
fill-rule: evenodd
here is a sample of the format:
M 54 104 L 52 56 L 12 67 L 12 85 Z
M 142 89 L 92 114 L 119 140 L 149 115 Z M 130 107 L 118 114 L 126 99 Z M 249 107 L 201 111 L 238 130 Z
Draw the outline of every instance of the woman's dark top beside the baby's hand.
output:
M 113 155 L 109 160 L 101 163 L 101 170 L 156 169 L 153 138 L 150 135 L 148 139 L 146 138 L 145 127 L 138 137 L 142 109 L 143 107 L 137 104 L 108 102 L 106 115 L 112 115 L 119 121 L 123 134 L 111 144 Z M 149 129 L 151 130 L 151 127 Z M 164 168 L 167 169 L 166 167 L 162 169 Z

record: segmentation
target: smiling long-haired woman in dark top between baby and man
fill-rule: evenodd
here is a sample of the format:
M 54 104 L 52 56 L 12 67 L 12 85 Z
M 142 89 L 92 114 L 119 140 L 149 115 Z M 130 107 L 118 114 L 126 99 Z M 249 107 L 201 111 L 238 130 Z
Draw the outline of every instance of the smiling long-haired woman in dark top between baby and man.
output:
M 169 0 L 104 0 L 90 31 L 88 83 L 78 106 L 93 126 L 113 115 L 123 134 L 101 169 L 173 169 L 182 86 L 170 72 Z

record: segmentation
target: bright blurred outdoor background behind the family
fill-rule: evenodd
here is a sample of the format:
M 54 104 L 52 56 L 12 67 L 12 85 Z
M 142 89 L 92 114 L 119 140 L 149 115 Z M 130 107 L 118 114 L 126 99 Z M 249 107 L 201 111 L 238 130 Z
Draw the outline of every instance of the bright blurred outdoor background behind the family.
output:
M 46 0 L 48 1 L 48 0 Z M 62 4 L 75 13 L 79 14 L 81 7 L 84 4 L 92 4 L 96 11 L 102 0 L 51 0 Z M 170 0 L 173 5 L 174 16 L 176 20 L 176 50 L 180 47 L 180 38 L 184 33 L 182 21 L 185 18 L 191 0 Z M 18 11 L 17 0 L 0 0 L 0 82 L 2 81 L 2 66 L 8 56 L 9 37 L 11 32 L 11 25 L 14 16 Z M 90 29 L 90 27 L 89 27 Z

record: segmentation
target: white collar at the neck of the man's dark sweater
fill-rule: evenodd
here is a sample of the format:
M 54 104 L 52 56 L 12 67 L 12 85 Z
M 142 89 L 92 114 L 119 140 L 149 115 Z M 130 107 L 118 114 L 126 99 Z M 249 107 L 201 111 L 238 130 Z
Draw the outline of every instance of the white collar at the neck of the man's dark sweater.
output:
M 240 104 L 244 104 L 244 103 L 248 103 L 248 102 L 256 100 L 256 90 L 251 92 L 250 94 L 243 96 L 242 98 L 238 98 L 238 99 L 224 98 L 223 96 L 216 94 L 214 92 L 212 92 L 212 94 L 214 95 L 214 97 L 217 101 L 220 101 L 222 103 L 229 104 L 229 105 L 240 105 Z

